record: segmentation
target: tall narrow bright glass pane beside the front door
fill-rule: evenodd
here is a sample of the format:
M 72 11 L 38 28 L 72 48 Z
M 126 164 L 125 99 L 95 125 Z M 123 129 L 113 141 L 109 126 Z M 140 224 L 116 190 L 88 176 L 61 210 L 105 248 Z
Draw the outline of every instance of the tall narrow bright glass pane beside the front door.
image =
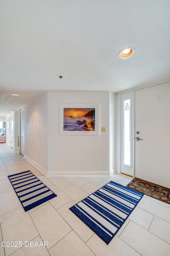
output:
M 124 163 L 130 166 L 130 99 L 124 100 Z

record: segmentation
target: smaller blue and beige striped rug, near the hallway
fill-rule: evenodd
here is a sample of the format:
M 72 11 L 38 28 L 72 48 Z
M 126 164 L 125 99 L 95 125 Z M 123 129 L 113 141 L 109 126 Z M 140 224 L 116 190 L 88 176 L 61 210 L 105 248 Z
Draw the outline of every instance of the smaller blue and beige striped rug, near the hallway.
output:
M 25 212 L 57 195 L 30 171 L 8 176 Z

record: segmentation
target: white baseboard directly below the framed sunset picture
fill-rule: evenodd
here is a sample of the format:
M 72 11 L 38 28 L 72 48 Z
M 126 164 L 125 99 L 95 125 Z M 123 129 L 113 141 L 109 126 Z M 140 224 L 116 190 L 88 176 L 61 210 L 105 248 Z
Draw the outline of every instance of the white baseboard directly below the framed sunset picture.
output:
M 49 172 L 47 177 L 52 176 L 111 176 L 110 172 Z

